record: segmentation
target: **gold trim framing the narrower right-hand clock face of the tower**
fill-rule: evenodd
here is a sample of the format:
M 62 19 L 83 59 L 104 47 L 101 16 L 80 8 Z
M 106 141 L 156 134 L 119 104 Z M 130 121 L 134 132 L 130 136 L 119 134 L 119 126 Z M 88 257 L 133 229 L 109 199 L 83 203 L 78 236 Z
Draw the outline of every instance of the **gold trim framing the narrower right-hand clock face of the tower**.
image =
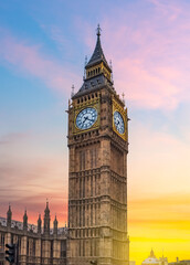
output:
M 123 119 L 124 119 L 124 126 L 125 126 L 125 131 L 123 135 L 118 132 L 116 129 L 115 123 L 114 123 L 114 113 L 118 112 Z M 127 109 L 124 109 L 123 106 L 114 98 L 113 96 L 113 130 L 120 136 L 125 141 L 127 141 Z

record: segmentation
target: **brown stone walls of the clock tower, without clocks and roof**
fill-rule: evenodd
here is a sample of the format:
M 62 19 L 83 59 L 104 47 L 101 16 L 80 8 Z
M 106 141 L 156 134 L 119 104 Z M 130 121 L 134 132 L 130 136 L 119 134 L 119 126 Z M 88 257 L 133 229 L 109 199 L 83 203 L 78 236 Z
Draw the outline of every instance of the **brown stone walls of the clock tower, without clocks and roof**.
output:
M 72 137 L 74 108 L 68 109 L 71 240 L 67 261 L 71 265 L 87 265 L 91 261 L 102 265 L 128 263 L 127 142 L 112 131 L 109 87 L 98 93 L 98 129 Z M 96 163 L 92 162 L 93 152 L 96 152 Z

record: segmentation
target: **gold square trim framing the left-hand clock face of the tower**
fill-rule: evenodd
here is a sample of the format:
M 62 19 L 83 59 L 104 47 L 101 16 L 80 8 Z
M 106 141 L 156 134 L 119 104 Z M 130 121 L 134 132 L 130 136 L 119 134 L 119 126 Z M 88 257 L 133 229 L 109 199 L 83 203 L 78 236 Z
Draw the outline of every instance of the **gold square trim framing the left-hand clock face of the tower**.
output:
M 76 117 L 78 115 L 78 113 L 81 113 L 83 109 L 87 108 L 87 107 L 92 107 L 92 108 L 95 108 L 96 112 L 97 112 L 97 119 L 96 121 L 94 123 L 94 125 L 88 128 L 88 129 L 78 129 L 77 126 L 76 126 Z M 86 132 L 86 131 L 89 131 L 92 129 L 96 129 L 99 127 L 99 99 L 95 99 L 94 102 L 88 102 L 86 103 L 85 105 L 82 104 L 81 106 L 76 107 L 74 109 L 74 123 L 73 123 L 73 134 L 74 135 L 77 135 L 77 134 L 82 134 L 82 132 Z

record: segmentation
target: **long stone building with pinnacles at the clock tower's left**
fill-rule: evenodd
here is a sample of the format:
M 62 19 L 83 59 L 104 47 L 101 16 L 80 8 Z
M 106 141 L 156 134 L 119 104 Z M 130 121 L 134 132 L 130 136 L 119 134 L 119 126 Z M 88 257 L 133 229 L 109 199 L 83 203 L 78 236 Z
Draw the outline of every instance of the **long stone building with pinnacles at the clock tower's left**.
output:
M 57 227 L 55 216 L 54 229 L 50 229 L 49 203 L 44 211 L 44 225 L 42 229 L 41 216 L 38 225 L 28 224 L 27 210 L 23 222 L 12 220 L 9 205 L 7 219 L 0 218 L 0 265 L 8 265 L 4 261 L 7 243 L 19 245 L 19 265 L 66 264 L 67 227 Z

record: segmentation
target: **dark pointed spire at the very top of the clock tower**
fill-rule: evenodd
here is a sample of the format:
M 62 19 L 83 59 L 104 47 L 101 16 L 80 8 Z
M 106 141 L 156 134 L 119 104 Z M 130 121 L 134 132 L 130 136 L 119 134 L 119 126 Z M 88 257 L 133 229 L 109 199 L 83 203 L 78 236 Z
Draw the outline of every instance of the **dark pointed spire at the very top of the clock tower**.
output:
M 102 61 L 106 64 L 106 66 L 110 70 L 110 67 L 107 64 L 107 61 L 105 59 L 102 45 L 101 45 L 101 26 L 99 24 L 97 25 L 97 41 L 96 41 L 96 46 L 94 49 L 94 53 L 92 57 L 89 59 L 89 62 L 86 64 L 85 68 L 91 67 L 94 64 L 101 63 Z M 112 70 L 110 70 L 112 72 Z

